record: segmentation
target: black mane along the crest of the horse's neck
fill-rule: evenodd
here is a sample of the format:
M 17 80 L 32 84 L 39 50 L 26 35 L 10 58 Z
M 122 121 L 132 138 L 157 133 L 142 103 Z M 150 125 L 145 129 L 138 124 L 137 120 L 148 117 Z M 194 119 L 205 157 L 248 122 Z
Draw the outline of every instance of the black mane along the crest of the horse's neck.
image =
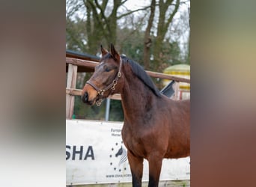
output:
M 150 88 L 151 91 L 156 96 L 161 96 L 161 93 L 156 88 L 156 86 L 153 84 L 152 79 L 150 79 L 150 76 L 147 75 L 147 73 L 144 71 L 143 67 L 139 65 L 137 62 L 132 61 L 131 59 L 127 58 L 126 56 L 121 56 L 123 63 L 128 63 L 132 67 L 132 72 L 135 74 L 135 76 L 138 77 L 138 79 L 141 80 L 141 82 L 144 83 L 144 85 L 147 85 L 148 88 Z

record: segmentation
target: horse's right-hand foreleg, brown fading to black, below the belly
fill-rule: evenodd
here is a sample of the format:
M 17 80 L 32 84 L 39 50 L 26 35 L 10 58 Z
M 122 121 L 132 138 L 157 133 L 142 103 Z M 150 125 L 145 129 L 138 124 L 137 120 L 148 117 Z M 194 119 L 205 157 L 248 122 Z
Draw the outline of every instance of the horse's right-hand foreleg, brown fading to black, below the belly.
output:
M 153 154 L 148 158 L 148 165 L 149 165 L 149 187 L 158 186 L 160 172 L 162 168 L 162 157 L 156 156 Z

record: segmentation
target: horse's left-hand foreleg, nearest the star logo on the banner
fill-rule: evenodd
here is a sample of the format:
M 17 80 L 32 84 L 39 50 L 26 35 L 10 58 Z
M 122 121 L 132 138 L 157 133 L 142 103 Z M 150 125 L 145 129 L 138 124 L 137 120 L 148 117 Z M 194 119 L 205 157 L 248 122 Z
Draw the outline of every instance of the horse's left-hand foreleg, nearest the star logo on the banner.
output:
M 129 150 L 127 156 L 129 160 L 129 167 L 132 172 L 132 187 L 141 187 L 143 158 L 134 156 Z

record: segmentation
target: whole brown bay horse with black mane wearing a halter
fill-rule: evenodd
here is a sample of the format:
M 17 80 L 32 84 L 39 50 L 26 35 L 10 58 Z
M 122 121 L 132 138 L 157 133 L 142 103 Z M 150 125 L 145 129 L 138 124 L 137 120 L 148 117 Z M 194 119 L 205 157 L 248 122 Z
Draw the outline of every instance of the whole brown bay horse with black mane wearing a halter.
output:
M 156 89 L 141 66 L 118 55 L 111 44 L 101 46 L 102 58 L 82 90 L 82 101 L 100 105 L 121 93 L 122 138 L 128 150 L 132 186 L 141 186 L 143 159 L 149 163 L 148 186 L 158 186 L 162 159 L 190 155 L 190 100 L 174 101 Z

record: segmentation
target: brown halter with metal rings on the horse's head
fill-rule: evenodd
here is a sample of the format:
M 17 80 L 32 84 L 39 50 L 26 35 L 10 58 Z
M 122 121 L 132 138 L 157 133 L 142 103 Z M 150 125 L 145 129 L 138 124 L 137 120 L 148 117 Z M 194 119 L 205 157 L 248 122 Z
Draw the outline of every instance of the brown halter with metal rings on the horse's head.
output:
M 121 68 L 122 68 L 122 58 L 120 58 L 120 65 L 119 65 L 119 70 L 118 70 L 117 76 L 115 76 L 115 79 L 113 80 L 113 82 L 104 89 L 98 88 L 96 85 L 94 85 L 94 83 L 92 83 L 90 81 L 86 82 L 86 84 L 91 85 L 92 88 L 94 88 L 97 91 L 98 95 L 100 96 L 100 99 L 98 99 L 96 102 L 97 106 L 100 106 L 101 102 L 103 102 L 102 96 L 105 91 L 108 91 L 110 88 L 112 89 L 112 91 L 115 91 L 115 85 L 118 84 L 118 80 L 121 77 Z

